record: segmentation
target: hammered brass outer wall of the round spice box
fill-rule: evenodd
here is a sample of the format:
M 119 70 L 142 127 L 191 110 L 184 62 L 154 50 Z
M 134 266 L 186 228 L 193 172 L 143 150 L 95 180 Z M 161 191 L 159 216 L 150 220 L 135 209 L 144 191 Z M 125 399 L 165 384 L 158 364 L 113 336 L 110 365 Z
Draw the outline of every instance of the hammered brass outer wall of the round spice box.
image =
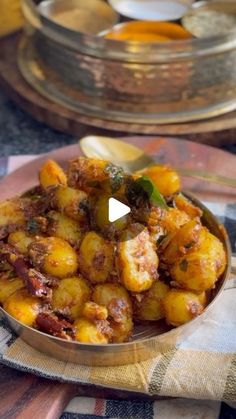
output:
M 161 124 L 236 109 L 236 31 L 166 43 L 120 42 L 69 30 L 23 0 L 23 76 L 40 93 L 102 119 Z M 89 3 L 89 0 L 88 0 Z

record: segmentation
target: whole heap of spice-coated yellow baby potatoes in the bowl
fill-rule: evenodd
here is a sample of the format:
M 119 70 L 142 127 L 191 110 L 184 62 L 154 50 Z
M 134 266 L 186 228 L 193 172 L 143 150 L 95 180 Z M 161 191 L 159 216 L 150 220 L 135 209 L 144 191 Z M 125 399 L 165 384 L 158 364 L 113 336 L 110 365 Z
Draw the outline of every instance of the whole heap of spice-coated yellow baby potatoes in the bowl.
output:
M 221 241 L 180 191 L 178 174 L 127 174 L 78 157 L 46 161 L 39 185 L 0 204 L 0 304 L 66 340 L 123 343 L 137 324 L 200 315 L 226 267 Z M 109 198 L 130 213 L 110 222 Z

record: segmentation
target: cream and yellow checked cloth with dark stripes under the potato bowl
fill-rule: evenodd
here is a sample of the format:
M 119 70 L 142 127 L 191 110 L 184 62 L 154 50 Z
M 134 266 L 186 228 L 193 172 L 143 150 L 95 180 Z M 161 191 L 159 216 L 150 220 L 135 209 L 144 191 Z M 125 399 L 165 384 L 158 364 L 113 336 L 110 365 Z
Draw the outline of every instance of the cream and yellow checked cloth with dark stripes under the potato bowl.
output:
M 33 156 L 0 159 L 3 176 Z M 207 206 L 227 227 L 236 251 L 236 205 Z M 91 383 L 168 400 L 115 401 L 77 397 L 62 419 L 234 418 L 236 410 L 236 289 L 225 290 L 211 315 L 180 347 L 122 367 L 86 367 L 57 361 L 29 347 L 0 319 L 0 361 L 23 371 L 71 383 Z M 221 401 L 225 403 L 221 403 Z M 230 404 L 230 405 L 229 405 Z

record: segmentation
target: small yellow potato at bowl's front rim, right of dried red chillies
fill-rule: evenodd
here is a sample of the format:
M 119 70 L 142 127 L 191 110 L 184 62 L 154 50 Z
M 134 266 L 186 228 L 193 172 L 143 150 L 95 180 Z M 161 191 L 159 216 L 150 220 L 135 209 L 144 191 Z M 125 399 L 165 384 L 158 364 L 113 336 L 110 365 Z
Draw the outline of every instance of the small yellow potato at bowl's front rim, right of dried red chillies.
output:
M 105 320 L 106 322 L 106 320 Z M 109 342 L 109 337 L 103 332 L 103 324 L 96 323 L 86 318 L 77 319 L 74 323 L 75 339 L 81 343 L 105 344 Z M 106 322 L 108 326 L 108 322 Z

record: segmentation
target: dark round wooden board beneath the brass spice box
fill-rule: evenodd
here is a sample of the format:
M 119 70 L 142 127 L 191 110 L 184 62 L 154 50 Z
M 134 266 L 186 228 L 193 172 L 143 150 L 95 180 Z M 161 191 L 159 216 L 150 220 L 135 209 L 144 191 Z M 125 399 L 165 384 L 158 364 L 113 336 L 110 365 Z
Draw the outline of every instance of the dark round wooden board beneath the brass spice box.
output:
M 205 121 L 147 126 L 86 117 L 53 103 L 37 93 L 21 76 L 16 62 L 18 37 L 13 35 L 0 40 L 0 85 L 22 109 L 53 128 L 78 136 L 88 131 L 113 135 L 139 133 L 181 136 L 215 146 L 236 143 L 236 111 Z

